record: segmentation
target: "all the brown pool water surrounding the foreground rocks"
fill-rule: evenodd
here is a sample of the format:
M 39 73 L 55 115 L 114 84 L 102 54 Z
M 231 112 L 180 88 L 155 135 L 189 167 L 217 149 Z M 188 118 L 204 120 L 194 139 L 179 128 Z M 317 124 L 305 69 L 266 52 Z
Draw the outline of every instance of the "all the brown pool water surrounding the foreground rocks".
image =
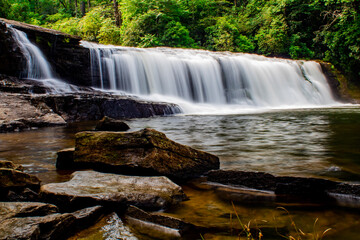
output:
M 223 169 L 360 181 L 359 108 L 174 116 L 134 119 L 128 123 L 134 130 L 151 127 L 177 142 L 214 153 L 220 157 Z M 36 174 L 44 183 L 66 181 L 69 172 L 55 169 L 56 151 L 72 147 L 74 133 L 93 126 L 90 122 L 1 134 L 0 159 L 24 165 L 27 172 Z M 235 219 L 231 194 L 203 184 L 186 185 L 184 191 L 190 200 L 163 214 L 216 227 L 218 232 L 204 233 L 205 239 L 237 239 L 239 222 Z M 283 239 L 274 234 L 274 227 L 293 229 L 290 217 L 306 233 L 313 232 L 318 218 L 315 232 L 332 228 L 324 239 L 360 239 L 358 209 L 276 201 L 237 201 L 235 206 L 243 223 L 250 221 L 251 226 L 264 230 L 264 239 Z M 290 214 L 277 207 L 285 207 Z M 99 239 L 106 221 L 99 224 L 79 238 Z M 295 236 L 296 232 L 291 230 L 290 234 Z

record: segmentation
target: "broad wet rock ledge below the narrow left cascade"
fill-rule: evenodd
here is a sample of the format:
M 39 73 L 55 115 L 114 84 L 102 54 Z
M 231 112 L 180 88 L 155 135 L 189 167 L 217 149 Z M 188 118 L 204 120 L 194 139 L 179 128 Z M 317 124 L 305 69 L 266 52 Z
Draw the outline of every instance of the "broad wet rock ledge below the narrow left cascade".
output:
M 91 88 L 79 88 L 80 92 L 71 94 L 50 94 L 51 89 L 41 81 L 4 75 L 0 79 L 0 132 L 99 120 L 104 116 L 144 118 L 181 112 L 175 104 L 147 102 Z M 36 88 L 48 94 L 36 94 Z

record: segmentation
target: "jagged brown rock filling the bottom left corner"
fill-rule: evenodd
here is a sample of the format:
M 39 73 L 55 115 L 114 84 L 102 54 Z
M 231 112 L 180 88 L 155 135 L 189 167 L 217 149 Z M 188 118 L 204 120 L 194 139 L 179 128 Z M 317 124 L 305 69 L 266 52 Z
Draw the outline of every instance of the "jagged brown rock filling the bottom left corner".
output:
M 101 212 L 95 206 L 74 213 L 8 218 L 0 222 L 0 239 L 66 239 L 98 220 Z

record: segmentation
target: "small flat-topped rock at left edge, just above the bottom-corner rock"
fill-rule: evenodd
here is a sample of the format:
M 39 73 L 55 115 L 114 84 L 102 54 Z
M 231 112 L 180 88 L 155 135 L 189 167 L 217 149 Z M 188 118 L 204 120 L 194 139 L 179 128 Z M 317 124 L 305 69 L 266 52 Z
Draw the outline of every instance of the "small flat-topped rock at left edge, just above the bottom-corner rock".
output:
M 45 216 L 57 213 L 55 205 L 40 202 L 0 202 L 0 222 L 13 217 Z

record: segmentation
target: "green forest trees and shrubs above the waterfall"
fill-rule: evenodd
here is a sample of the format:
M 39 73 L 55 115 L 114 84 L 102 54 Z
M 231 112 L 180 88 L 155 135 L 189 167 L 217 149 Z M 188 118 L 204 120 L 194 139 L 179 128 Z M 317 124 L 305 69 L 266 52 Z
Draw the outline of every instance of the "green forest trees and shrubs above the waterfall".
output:
M 0 0 L 0 17 L 104 44 L 321 59 L 360 83 L 359 0 Z

